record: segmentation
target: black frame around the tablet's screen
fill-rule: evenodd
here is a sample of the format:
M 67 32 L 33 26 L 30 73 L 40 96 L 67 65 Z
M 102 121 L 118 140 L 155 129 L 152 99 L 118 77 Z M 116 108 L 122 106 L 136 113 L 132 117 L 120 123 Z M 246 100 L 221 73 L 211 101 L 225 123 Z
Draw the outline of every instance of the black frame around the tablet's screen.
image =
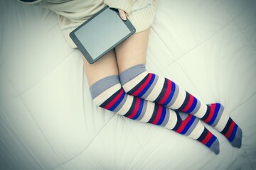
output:
M 123 42 L 124 40 L 126 40 L 127 38 L 129 38 L 129 36 L 131 36 L 132 34 L 134 34 L 136 32 L 136 29 L 134 28 L 134 26 L 132 25 L 132 23 L 127 19 L 127 21 L 123 21 L 122 18 L 120 18 L 120 20 L 122 20 L 124 22 L 124 24 L 127 26 L 127 28 L 130 30 L 130 33 L 128 35 L 126 35 L 124 38 L 122 38 L 121 40 L 119 40 L 117 43 L 115 43 L 114 45 L 112 45 L 112 47 L 110 47 L 108 50 L 106 50 L 105 52 L 102 52 L 102 54 L 98 57 L 96 57 L 95 59 L 93 59 L 90 55 L 89 52 L 87 52 L 87 50 L 85 49 L 85 47 L 82 45 L 82 43 L 80 42 L 80 40 L 78 39 L 78 37 L 75 35 L 75 32 L 77 30 L 79 30 L 80 28 L 82 28 L 82 26 L 85 26 L 86 23 L 90 22 L 93 18 L 95 18 L 96 16 L 98 16 L 100 13 L 102 13 L 103 11 L 105 11 L 107 8 L 110 8 L 109 6 L 105 6 L 105 8 L 102 8 L 102 10 L 100 10 L 99 12 L 95 13 L 94 16 L 92 16 L 91 18 L 89 18 L 87 21 L 85 21 L 85 23 L 82 23 L 80 26 L 78 26 L 78 28 L 75 28 L 75 30 L 73 30 L 70 33 L 70 38 L 73 40 L 73 42 L 75 43 L 75 45 L 78 47 L 78 49 L 80 50 L 80 52 L 82 52 L 82 55 L 84 55 L 85 59 L 90 63 L 93 64 L 94 62 L 96 62 L 97 60 L 99 60 L 101 57 L 103 57 L 104 55 L 107 54 L 107 52 L 110 52 L 110 50 L 112 50 L 114 47 L 116 47 L 117 45 L 119 45 L 121 42 Z M 119 16 L 119 13 L 117 11 L 117 9 L 114 8 L 110 8 L 110 10 L 114 11 L 115 13 L 117 13 L 117 15 Z

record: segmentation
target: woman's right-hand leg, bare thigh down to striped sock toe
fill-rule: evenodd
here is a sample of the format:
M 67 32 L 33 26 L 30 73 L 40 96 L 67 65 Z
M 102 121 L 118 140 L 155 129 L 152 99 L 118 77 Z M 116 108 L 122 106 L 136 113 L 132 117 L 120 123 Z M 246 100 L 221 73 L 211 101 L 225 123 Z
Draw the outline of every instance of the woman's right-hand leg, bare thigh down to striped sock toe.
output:
M 223 112 L 220 103 L 208 106 L 173 81 L 146 72 L 148 36 L 149 30 L 146 30 L 137 39 L 129 38 L 116 48 L 119 77 L 124 91 L 175 111 L 195 115 L 225 135 L 233 147 L 240 147 L 242 130 L 228 114 Z M 136 51 L 139 51 L 138 54 Z

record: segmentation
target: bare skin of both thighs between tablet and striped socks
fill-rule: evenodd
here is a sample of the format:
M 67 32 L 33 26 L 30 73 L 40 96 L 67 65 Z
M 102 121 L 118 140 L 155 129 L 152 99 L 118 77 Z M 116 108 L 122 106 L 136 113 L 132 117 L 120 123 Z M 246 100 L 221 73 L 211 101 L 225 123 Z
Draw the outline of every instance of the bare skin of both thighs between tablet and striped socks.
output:
M 118 75 L 134 65 L 145 64 L 149 32 L 150 28 L 135 33 L 94 64 L 88 63 L 81 54 L 89 86 L 104 77 Z

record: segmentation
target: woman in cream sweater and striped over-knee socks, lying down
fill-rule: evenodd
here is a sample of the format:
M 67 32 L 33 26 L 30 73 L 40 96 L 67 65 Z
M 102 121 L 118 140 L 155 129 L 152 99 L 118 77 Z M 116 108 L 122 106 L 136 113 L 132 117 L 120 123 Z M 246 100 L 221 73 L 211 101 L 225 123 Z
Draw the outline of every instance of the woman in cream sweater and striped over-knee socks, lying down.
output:
M 74 48 L 69 37 L 72 30 L 106 5 L 118 8 L 120 17 L 129 18 L 137 33 L 95 64 L 89 64 L 81 54 L 95 104 L 127 118 L 174 130 L 218 154 L 218 139 L 203 126 L 201 119 L 222 133 L 233 147 L 241 147 L 242 130 L 220 103 L 206 105 L 174 81 L 146 71 L 146 50 L 157 1 L 23 0 L 23 3 L 55 11 L 65 39 Z

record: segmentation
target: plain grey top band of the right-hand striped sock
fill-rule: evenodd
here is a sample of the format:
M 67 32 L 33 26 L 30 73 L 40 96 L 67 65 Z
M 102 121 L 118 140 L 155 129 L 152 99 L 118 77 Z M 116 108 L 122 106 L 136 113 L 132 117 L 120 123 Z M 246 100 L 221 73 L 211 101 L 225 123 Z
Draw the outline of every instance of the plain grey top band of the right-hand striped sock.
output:
M 134 77 L 137 77 L 142 72 L 146 72 L 145 64 L 138 64 L 124 70 L 124 72 L 120 73 L 119 75 L 121 84 L 126 84 L 128 81 L 132 80 Z

